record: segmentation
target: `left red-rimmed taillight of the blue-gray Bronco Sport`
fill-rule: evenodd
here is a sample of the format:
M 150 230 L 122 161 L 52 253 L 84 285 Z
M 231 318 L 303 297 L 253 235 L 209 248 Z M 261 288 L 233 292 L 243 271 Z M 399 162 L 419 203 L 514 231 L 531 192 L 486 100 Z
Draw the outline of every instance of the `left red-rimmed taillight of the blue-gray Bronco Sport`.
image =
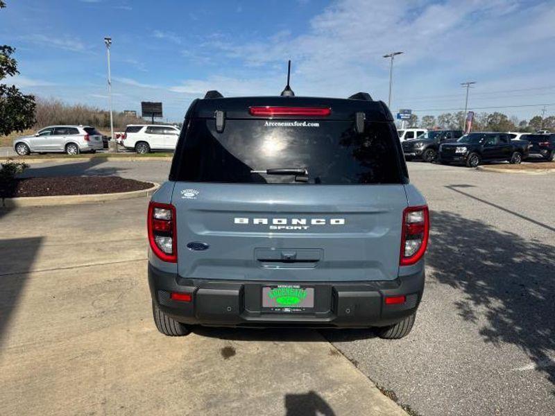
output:
M 156 257 L 162 261 L 176 263 L 178 261 L 176 207 L 159 202 L 148 204 L 147 227 L 148 243 Z

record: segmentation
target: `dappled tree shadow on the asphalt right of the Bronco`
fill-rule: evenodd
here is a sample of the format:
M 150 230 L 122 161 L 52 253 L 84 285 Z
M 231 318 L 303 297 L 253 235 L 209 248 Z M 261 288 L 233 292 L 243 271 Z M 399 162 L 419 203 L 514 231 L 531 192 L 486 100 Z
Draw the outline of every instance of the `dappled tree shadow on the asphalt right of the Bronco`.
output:
M 519 347 L 555 383 L 554 246 L 434 211 L 427 265 L 429 277 L 463 292 L 455 307 L 484 342 Z

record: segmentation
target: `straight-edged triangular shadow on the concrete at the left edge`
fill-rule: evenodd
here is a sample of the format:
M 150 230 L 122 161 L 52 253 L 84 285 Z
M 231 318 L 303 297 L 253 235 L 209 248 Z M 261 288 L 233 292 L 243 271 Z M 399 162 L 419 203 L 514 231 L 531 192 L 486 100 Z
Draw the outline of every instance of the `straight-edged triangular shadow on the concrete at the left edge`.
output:
M 42 237 L 0 240 L 0 347 L 29 277 L 27 271 L 31 270 L 41 245 Z

